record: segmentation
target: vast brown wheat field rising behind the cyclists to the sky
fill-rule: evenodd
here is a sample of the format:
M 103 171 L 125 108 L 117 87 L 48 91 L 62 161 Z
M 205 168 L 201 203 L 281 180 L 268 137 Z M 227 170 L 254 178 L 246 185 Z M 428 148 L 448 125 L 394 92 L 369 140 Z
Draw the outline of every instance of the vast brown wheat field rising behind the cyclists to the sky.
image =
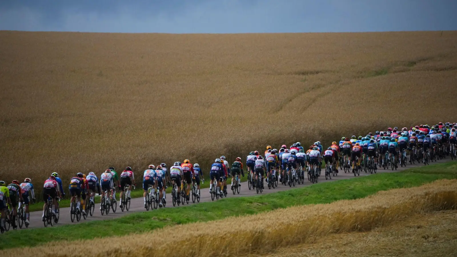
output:
M 0 32 L 0 179 L 456 118 L 457 32 Z

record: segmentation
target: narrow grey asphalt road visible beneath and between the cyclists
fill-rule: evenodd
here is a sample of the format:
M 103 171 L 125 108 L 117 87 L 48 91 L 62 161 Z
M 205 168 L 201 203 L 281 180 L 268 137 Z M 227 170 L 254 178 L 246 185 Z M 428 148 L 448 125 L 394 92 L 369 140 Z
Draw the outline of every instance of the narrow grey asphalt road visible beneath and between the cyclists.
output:
M 445 160 L 432 162 L 431 165 L 436 164 L 436 163 L 443 163 L 443 162 L 450 161 L 450 160 L 451 160 L 451 158 L 446 158 Z M 381 169 L 378 168 L 377 171 L 378 171 L 378 173 L 398 172 L 398 171 L 404 171 L 405 169 L 408 169 L 408 168 L 420 167 L 420 166 L 424 166 L 424 164 L 417 164 L 416 163 L 415 165 L 408 165 L 406 168 L 399 167 L 396 171 L 395 170 L 392 171 L 391 169 L 384 170 L 382 168 Z M 365 173 L 364 171 L 362 171 L 360 173 L 360 177 L 369 176 L 369 175 L 371 175 L 371 174 L 370 173 Z M 344 173 L 344 171 L 340 171 L 338 176 L 332 177 L 331 180 L 325 180 L 324 171 L 322 171 L 322 174 L 319 177 L 319 183 L 338 181 L 338 180 L 350 179 L 350 178 L 354 178 L 353 173 Z M 276 187 L 274 189 L 268 189 L 268 187 L 266 187 L 266 184 L 265 184 L 265 189 L 264 189 L 262 194 L 275 193 L 275 192 L 279 192 L 279 191 L 289 190 L 291 188 L 307 187 L 309 185 L 312 185 L 312 184 L 308 181 L 308 179 L 305 179 L 305 184 L 300 184 L 299 185 L 297 183 L 295 185 L 295 187 L 293 187 L 293 186 L 289 187 L 288 185 L 284 186 L 281 183 L 279 183 L 278 187 Z M 249 190 L 247 182 L 242 182 L 241 183 L 241 188 L 240 188 L 240 193 L 239 194 L 235 194 L 234 195 L 232 193 L 232 191 L 230 190 L 230 185 L 229 184 L 228 184 L 228 188 L 227 189 L 229 190 L 228 191 L 228 195 L 227 195 L 228 198 L 258 195 L 255 190 Z M 167 198 L 167 204 L 166 204 L 165 208 L 173 208 L 173 204 L 171 203 L 171 196 L 169 194 L 167 194 L 166 198 Z M 119 199 L 119 193 L 117 193 L 117 199 Z M 215 201 L 216 201 L 216 199 L 215 199 Z M 200 202 L 211 202 L 211 195 L 209 193 L 209 188 L 205 188 L 205 189 L 201 190 Z M 117 204 L 119 204 L 119 203 L 117 203 Z M 196 203 L 192 203 L 192 201 L 190 200 L 189 204 L 197 204 L 197 202 Z M 185 204 L 184 206 L 186 206 L 186 205 L 187 204 Z M 183 206 L 183 205 L 180 205 L 180 206 Z M 99 208 L 100 208 L 100 204 L 96 204 L 95 211 L 94 211 L 95 213 L 94 213 L 93 216 L 91 216 L 91 217 L 89 216 L 87 218 L 87 220 L 83 220 L 82 217 L 81 217 L 81 220 L 79 222 L 76 222 L 76 220 L 75 220 L 73 223 L 70 220 L 70 215 L 69 215 L 70 208 L 62 208 L 62 209 L 60 209 L 60 213 L 61 213 L 60 220 L 59 220 L 58 224 L 55 224 L 54 226 L 69 225 L 69 224 L 79 224 L 79 223 L 86 222 L 86 221 L 91 221 L 91 220 L 115 219 L 115 218 L 119 218 L 119 217 L 122 217 L 122 216 L 127 215 L 127 214 L 131 214 L 131 213 L 134 213 L 134 212 L 146 211 L 146 209 L 144 209 L 143 198 L 133 198 L 131 200 L 129 211 L 122 212 L 121 209 L 119 208 L 119 206 L 117 206 L 116 213 L 113 213 L 111 211 L 108 215 L 105 214 L 105 215 L 102 216 Z M 149 210 L 149 211 L 151 211 L 151 210 Z M 159 211 L 159 209 L 156 209 L 156 210 L 153 210 L 153 211 Z M 43 221 L 41 220 L 42 214 L 43 214 L 42 211 L 36 211 L 36 212 L 30 213 L 29 229 L 31 229 L 31 228 L 40 228 L 40 227 L 44 226 L 43 225 Z M 48 225 L 48 226 L 50 226 L 50 225 Z

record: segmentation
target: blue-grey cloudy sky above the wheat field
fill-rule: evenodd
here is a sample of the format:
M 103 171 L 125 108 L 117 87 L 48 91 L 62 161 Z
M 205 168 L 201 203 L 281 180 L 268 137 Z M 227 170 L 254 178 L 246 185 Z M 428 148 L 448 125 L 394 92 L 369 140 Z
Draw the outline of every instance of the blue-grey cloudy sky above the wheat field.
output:
M 0 0 L 0 30 L 161 33 L 457 30 L 457 0 Z

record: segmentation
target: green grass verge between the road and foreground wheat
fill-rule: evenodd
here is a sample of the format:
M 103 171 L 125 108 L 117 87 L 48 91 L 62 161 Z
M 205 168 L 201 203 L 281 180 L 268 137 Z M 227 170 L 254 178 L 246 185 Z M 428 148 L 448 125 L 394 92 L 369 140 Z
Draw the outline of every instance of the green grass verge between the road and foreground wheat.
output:
M 381 173 L 315 184 L 262 196 L 224 198 L 217 202 L 199 203 L 182 208 L 165 208 L 154 212 L 135 213 L 114 220 L 11 231 L 2 235 L 3 240 L 0 241 L 0 249 L 36 246 L 50 241 L 73 241 L 129 233 L 144 233 L 167 225 L 220 220 L 230 216 L 256 214 L 294 205 L 332 203 L 337 200 L 364 198 L 378 191 L 417 187 L 444 178 L 457 178 L 457 161 L 412 168 L 396 173 Z

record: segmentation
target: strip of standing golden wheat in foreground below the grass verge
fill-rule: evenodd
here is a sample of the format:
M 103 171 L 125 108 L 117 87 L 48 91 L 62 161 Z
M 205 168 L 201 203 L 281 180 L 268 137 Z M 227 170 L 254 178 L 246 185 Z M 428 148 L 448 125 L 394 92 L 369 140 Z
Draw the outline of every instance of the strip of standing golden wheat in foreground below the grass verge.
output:
M 394 189 L 373 196 L 278 209 L 206 223 L 176 225 L 141 235 L 49 243 L 12 249 L 22 256 L 234 256 L 271 252 L 330 233 L 367 231 L 397 219 L 435 210 L 455 209 L 457 180 L 441 180 L 422 187 Z M 279 220 L 277 218 L 280 217 Z M 81 245 L 99 246 L 79 251 Z M 171 244 L 171 245 L 170 245 Z M 171 247 L 170 247 L 171 246 Z M 60 252 L 65 249 L 65 252 Z

